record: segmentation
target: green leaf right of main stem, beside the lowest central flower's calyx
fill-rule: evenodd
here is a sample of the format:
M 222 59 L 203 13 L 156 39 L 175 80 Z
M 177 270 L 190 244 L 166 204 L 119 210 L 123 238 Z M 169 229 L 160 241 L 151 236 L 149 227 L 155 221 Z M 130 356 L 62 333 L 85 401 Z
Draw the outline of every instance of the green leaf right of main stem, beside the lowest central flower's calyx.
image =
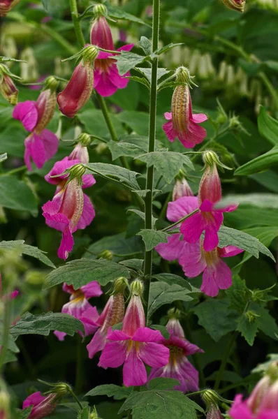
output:
M 180 285 L 168 285 L 166 282 L 152 282 L 149 291 L 149 318 L 163 304 L 171 304 L 176 300 L 191 301 L 192 297 L 190 297 L 189 293 L 191 291 Z

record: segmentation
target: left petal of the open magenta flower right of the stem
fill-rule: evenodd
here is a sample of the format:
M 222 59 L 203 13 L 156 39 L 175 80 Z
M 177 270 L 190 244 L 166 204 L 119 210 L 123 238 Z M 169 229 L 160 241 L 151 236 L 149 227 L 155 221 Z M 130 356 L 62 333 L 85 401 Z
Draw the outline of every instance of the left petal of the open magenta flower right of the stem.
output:
M 180 257 L 179 263 L 182 266 L 184 274 L 189 278 L 198 277 L 198 275 L 205 270 L 207 263 L 200 252 L 199 241 L 193 244 L 188 244 L 188 247 L 186 247 L 186 253 Z

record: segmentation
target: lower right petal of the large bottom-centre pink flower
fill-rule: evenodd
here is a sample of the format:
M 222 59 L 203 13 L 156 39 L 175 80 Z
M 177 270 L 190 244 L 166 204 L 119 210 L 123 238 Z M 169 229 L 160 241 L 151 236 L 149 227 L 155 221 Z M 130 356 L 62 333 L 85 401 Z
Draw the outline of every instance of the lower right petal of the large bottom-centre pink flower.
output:
M 140 358 L 153 368 L 163 367 L 168 364 L 169 348 L 161 344 L 147 343 L 140 345 Z

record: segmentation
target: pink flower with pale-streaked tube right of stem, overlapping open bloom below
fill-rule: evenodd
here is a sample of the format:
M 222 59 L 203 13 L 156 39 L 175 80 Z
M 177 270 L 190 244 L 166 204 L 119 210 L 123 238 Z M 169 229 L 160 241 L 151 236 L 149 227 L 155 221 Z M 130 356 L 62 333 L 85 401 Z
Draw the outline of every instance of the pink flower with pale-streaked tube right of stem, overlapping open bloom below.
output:
M 198 198 L 199 211 L 182 222 L 180 232 L 186 242 L 196 243 L 205 230 L 204 249 L 212 251 L 219 244 L 218 231 L 224 220 L 223 213 L 237 209 L 237 205 L 223 208 L 216 205 L 221 200 L 221 184 L 215 163 L 205 168 Z

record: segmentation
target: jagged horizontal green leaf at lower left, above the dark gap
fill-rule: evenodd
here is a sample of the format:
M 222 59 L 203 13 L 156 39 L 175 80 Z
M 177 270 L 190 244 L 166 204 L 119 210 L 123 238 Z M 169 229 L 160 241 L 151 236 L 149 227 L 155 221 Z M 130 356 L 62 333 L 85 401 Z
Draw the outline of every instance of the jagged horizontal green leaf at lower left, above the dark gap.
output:
M 59 330 L 71 336 L 78 330 L 85 334 L 84 325 L 80 320 L 69 314 L 52 313 L 52 311 L 36 316 L 27 311 L 10 329 L 10 334 L 14 339 L 20 335 L 48 336 L 51 330 Z

